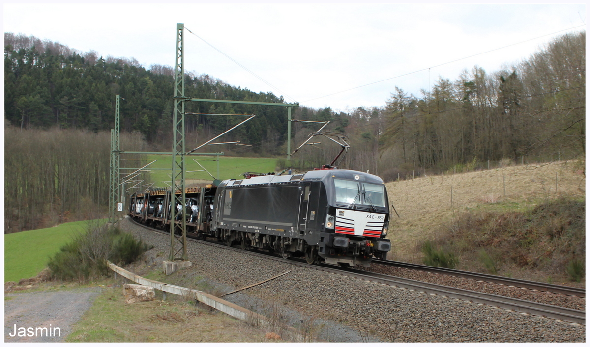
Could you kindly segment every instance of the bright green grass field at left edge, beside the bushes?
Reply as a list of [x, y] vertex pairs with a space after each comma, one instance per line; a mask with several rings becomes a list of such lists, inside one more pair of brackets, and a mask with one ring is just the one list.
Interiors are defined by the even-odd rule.
[[64, 223], [56, 227], [4, 235], [4, 282], [36, 276], [47, 260], [86, 229], [87, 222]]

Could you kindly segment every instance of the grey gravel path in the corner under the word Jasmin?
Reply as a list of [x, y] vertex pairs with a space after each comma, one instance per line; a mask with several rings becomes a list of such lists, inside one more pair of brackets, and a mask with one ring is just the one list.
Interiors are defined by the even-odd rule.
[[[71, 326], [92, 306], [100, 290], [84, 288], [6, 294], [5, 298], [10, 299], [4, 301], [4, 342], [64, 341], [65, 336], [71, 333]], [[33, 328], [31, 334], [26, 331], [27, 335], [33, 336], [18, 336], [19, 328]], [[51, 333], [39, 330], [35, 334], [36, 328], [51, 328]]]

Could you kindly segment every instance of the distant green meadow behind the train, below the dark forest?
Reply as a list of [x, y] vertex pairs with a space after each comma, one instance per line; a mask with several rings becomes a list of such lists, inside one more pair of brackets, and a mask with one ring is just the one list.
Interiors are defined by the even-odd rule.
[[[172, 168], [172, 156], [164, 156], [164, 155], [150, 155], [148, 156], [151, 160], [158, 160], [148, 168], [165, 168], [166, 170], [154, 170], [151, 175], [151, 179], [153, 182], [156, 182], [156, 187], [168, 187], [166, 183], [170, 184], [171, 178], [168, 174]], [[268, 173], [274, 172], [277, 166], [277, 159], [276, 158], [245, 158], [245, 157], [225, 157], [219, 156], [219, 174], [217, 171], [218, 162], [211, 161], [217, 160], [216, 156], [186, 156], [185, 157], [185, 166], [186, 171], [194, 171], [194, 170], [203, 170], [199, 167], [198, 164], [195, 163], [193, 159], [198, 160], [198, 163], [201, 164], [211, 175], [215, 176], [215, 178], [219, 178], [220, 180], [226, 179], [238, 179], [240, 178], [240, 174], [245, 173], [247, 171], [253, 172], [260, 172], [260, 173]], [[202, 161], [208, 160], [208, 161]], [[133, 161], [131, 163], [139, 163]], [[149, 161], [142, 161], [141, 163], [149, 163]], [[145, 165], [143, 164], [143, 165]], [[140, 167], [137, 164], [133, 167]], [[185, 179], [187, 184], [191, 184], [192, 180], [213, 180], [207, 172], [187, 172]], [[219, 176], [219, 177], [218, 177]], [[162, 181], [166, 181], [163, 183]]]

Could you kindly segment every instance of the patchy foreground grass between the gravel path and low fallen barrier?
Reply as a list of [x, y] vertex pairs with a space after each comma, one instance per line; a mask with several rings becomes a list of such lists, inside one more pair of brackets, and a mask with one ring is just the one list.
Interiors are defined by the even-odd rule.
[[107, 289], [67, 336], [68, 342], [262, 342], [255, 331], [230, 316], [176, 302], [125, 302], [122, 290]]

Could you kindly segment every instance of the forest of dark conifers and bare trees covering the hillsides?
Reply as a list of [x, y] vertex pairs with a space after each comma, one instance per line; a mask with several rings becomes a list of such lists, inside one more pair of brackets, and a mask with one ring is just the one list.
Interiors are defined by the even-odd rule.
[[[65, 177], [51, 180], [41, 176], [61, 177], [60, 174], [69, 170], [63, 166], [57, 173], [57, 161], [47, 158], [73, 163], [79, 155], [74, 150], [81, 148], [71, 144], [53, 145], [61, 143], [64, 136], [75, 134], [81, 142], [96, 142], [84, 148], [89, 151], [100, 148], [104, 158], [96, 158], [96, 163], [108, 161], [109, 136], [106, 133], [114, 126], [117, 94], [124, 98], [120, 104], [121, 126], [122, 133], [134, 139], [130, 143], [156, 151], [169, 151], [172, 147], [173, 68], [163, 65], [145, 68], [133, 59], [104, 58], [94, 51], [80, 52], [35, 37], [5, 33], [4, 38], [5, 132], [8, 135], [5, 138], [5, 172], [18, 173], [23, 172], [19, 170], [24, 167], [30, 168], [27, 175], [17, 177], [19, 186], [9, 187], [8, 176], [5, 181], [7, 229], [9, 225], [13, 230], [44, 225], [42, 220], [47, 219], [44, 216], [50, 211], [63, 222], [68, 211], [80, 210], [80, 199], [106, 204], [108, 191], [105, 187], [109, 177], [104, 170], [80, 174], [73, 190], [77, 195], [58, 182], [67, 182]], [[194, 72], [185, 75], [185, 95], [284, 103], [282, 97], [271, 92], [256, 93]], [[382, 107], [359, 107], [346, 113], [301, 106], [294, 108], [293, 118], [330, 121], [326, 130], [345, 134], [350, 144], [350, 151], [339, 168], [369, 171], [385, 181], [395, 180], [399, 174], [401, 177], [412, 175], [413, 171], [439, 173], [487, 161], [517, 161], [519, 158], [524, 161], [525, 157], [527, 162], [583, 158], [585, 32], [553, 39], [526, 60], [499, 71], [488, 72], [476, 66], [464, 70], [454, 80], [439, 77], [430, 91], [422, 90], [420, 95], [408, 94], [396, 87], [384, 102]], [[286, 107], [186, 103], [186, 112], [256, 114], [253, 120], [222, 139], [239, 140], [253, 147], [216, 147], [216, 150], [238, 156], [283, 157], [286, 153]], [[201, 144], [204, 139], [241, 120], [237, 116], [187, 116], [187, 147]], [[291, 149], [303, 143], [317, 128], [319, 126], [313, 123], [293, 123]], [[44, 131], [47, 139], [42, 135]], [[43, 140], [52, 145], [30, 147], [29, 143], [25, 146], [22, 141], [15, 140], [18, 138], [29, 139], [33, 144]], [[44, 150], [39, 156], [46, 156], [44, 168], [47, 170], [37, 170], [34, 164], [24, 162], [37, 160], [31, 155], [34, 148]], [[53, 153], [54, 150], [60, 154]], [[290, 163], [282, 165], [300, 170], [319, 167], [328, 164], [339, 150], [335, 143], [322, 141], [321, 145], [305, 146]], [[70, 156], [64, 151], [73, 154]], [[44, 186], [37, 187], [39, 182], [45, 182]], [[27, 191], [27, 199], [24, 199], [24, 187], [31, 189]], [[17, 208], [14, 201], [19, 201], [20, 207]], [[11, 224], [11, 219], [19, 222]]]

